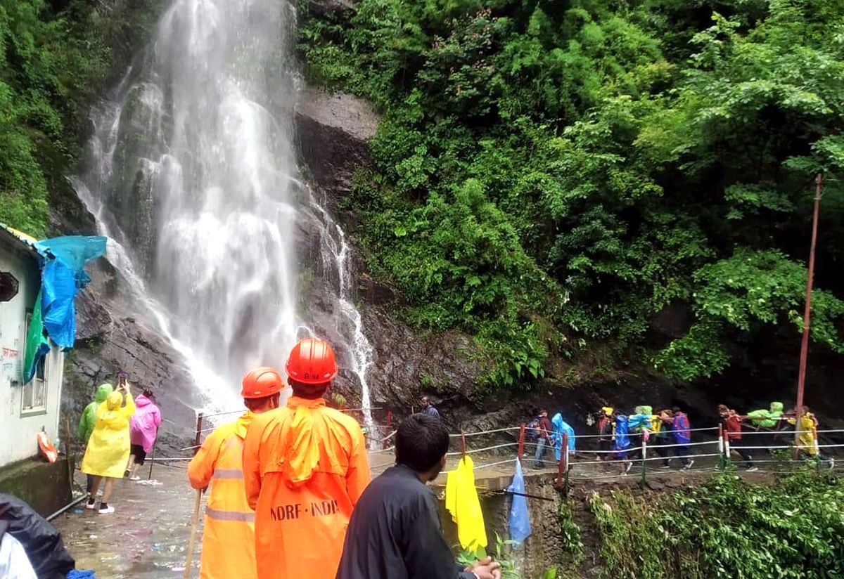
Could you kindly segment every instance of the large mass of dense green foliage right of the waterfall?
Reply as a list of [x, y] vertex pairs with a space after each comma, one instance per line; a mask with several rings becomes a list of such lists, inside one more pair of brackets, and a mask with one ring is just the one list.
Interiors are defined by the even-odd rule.
[[[371, 271], [414, 324], [475, 335], [494, 385], [592, 344], [706, 377], [802, 329], [818, 171], [820, 259], [842, 256], [842, 0], [300, 13], [309, 77], [384, 113], [349, 200]], [[839, 352], [841, 289], [815, 292], [813, 325]], [[669, 307], [681, 335], [652, 332]]]

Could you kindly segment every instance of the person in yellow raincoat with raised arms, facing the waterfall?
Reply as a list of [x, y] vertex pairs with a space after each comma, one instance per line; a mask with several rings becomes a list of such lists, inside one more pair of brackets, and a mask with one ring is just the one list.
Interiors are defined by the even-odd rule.
[[114, 489], [114, 480], [122, 478], [129, 460], [129, 419], [134, 412], [135, 401], [125, 378], [121, 378], [117, 389], [97, 408], [97, 422], [88, 439], [88, 448], [85, 449], [82, 459], [82, 472], [94, 476], [85, 508], [96, 507], [97, 490], [102, 480], [106, 479], [100, 501], [102, 515], [114, 512], [114, 507], [111, 507], [108, 501]]

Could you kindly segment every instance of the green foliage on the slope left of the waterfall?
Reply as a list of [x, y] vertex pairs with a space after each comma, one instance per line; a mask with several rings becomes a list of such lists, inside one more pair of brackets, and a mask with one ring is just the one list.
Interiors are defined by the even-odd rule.
[[46, 233], [47, 191], [66, 186], [88, 107], [149, 27], [123, 4], [0, 0], [0, 222]]

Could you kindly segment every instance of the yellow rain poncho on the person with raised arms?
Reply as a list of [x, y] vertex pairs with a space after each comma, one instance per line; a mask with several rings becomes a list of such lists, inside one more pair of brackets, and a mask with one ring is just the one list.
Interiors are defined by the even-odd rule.
[[112, 392], [97, 408], [97, 423], [82, 459], [85, 474], [122, 478], [129, 461], [129, 419], [135, 412], [132, 394], [126, 394], [125, 406], [122, 403], [123, 395]]

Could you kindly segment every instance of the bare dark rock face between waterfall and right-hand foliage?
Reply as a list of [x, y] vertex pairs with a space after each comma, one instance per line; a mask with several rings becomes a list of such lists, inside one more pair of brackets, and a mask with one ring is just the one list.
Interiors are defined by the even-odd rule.
[[[465, 404], [476, 398], [474, 383], [479, 367], [461, 354], [472, 350], [472, 340], [458, 333], [423, 339], [398, 321], [394, 312], [401, 305], [401, 297], [366, 274], [361, 255], [354, 248], [356, 221], [354, 214], [341, 209], [341, 201], [351, 190], [354, 171], [369, 163], [366, 142], [375, 135], [378, 116], [370, 105], [352, 95], [306, 87], [300, 91], [295, 120], [300, 158], [310, 173], [311, 186], [352, 240], [354, 292], [365, 334], [375, 349], [369, 373], [373, 405], [399, 413], [409, 411], [414, 405], [419, 407], [423, 389], [436, 392], [446, 404]], [[325, 283], [328, 275], [318, 255], [318, 234], [306, 224], [300, 231], [300, 260], [317, 268], [311, 282], [301, 284], [300, 300], [306, 317], [314, 319], [315, 329], [330, 340], [336, 330], [325, 315], [331, 302]], [[354, 385], [341, 373], [336, 388], [347, 399], [359, 400]]]

